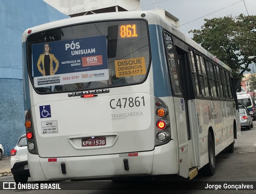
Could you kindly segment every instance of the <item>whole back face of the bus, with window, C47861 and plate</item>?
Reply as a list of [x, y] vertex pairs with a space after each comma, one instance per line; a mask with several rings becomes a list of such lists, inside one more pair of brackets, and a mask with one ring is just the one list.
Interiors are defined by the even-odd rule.
[[[164, 158], [176, 166], [168, 106], [152, 88], [146, 20], [31, 30], [26, 121], [32, 123], [29, 168], [37, 172], [32, 180], [150, 175]], [[46, 44], [55, 71], [50, 75], [44, 73]], [[170, 147], [173, 156], [160, 151]], [[155, 167], [154, 173], [163, 171]], [[177, 168], [168, 174], [177, 174]]]

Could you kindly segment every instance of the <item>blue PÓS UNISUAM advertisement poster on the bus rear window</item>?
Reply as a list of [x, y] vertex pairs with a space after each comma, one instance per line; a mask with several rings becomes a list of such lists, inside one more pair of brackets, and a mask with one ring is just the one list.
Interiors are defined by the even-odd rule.
[[34, 86], [108, 80], [106, 35], [32, 45]]

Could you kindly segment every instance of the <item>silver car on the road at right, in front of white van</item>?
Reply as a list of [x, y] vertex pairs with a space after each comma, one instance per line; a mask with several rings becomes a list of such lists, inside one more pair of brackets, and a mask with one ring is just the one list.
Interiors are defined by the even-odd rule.
[[250, 116], [250, 112], [244, 105], [239, 105], [239, 116], [240, 116], [240, 125], [241, 127], [246, 127], [247, 129], [251, 129], [253, 127], [252, 117]]

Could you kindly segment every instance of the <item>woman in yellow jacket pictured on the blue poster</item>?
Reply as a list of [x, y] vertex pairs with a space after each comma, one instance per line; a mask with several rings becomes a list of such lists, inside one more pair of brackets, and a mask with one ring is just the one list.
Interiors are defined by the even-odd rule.
[[[53, 67], [53, 61], [55, 62], [55, 68]], [[40, 64], [42, 63], [41, 68]], [[51, 54], [51, 47], [48, 43], [44, 44], [44, 54], [41, 54], [37, 62], [38, 71], [43, 76], [54, 75], [59, 67], [59, 61]]]

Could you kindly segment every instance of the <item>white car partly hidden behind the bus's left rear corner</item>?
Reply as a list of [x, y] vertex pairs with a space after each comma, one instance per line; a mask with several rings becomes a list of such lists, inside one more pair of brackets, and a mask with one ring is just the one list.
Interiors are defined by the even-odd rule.
[[30, 177], [28, 169], [28, 148], [26, 134], [20, 139], [14, 149], [11, 150], [11, 171], [16, 183], [26, 183]]

